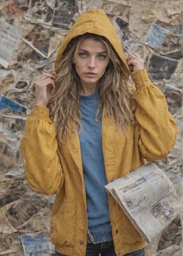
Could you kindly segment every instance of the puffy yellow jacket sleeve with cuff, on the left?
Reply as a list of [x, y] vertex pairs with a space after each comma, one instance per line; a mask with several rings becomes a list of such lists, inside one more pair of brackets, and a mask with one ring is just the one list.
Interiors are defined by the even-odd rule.
[[64, 178], [55, 127], [49, 119], [48, 108], [34, 105], [33, 115], [26, 120], [21, 151], [25, 159], [27, 183], [45, 195], [58, 192]]

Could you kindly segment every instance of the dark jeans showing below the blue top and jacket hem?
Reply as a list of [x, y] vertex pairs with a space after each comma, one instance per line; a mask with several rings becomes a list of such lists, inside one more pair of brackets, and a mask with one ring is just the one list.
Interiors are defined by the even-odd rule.
[[[114, 243], [113, 241], [97, 243], [94, 245], [93, 243], [87, 243], [86, 247], [86, 256], [116, 256], [114, 251]], [[54, 256], [67, 256], [55, 251]], [[125, 254], [125, 256], [145, 256], [145, 250], [141, 249], [138, 251], [133, 251], [133, 253]]]

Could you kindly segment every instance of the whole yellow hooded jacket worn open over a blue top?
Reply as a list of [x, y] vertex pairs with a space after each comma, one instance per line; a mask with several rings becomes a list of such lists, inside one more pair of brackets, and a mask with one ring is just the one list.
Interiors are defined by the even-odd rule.
[[[104, 11], [98, 9], [86, 11], [71, 27], [58, 49], [55, 70], [71, 38], [86, 32], [108, 38], [129, 76], [114, 27]], [[145, 69], [133, 72], [132, 78], [137, 89], [137, 124], [129, 125], [125, 136], [115, 128], [113, 120], [102, 115], [102, 149], [108, 183], [140, 167], [144, 159], [154, 161], [166, 156], [176, 141], [177, 125], [168, 112], [164, 95], [152, 85]], [[35, 105], [33, 115], [27, 117], [21, 149], [30, 186], [42, 194], [57, 193], [50, 234], [55, 250], [69, 256], [85, 256], [86, 191], [77, 131], [70, 131], [66, 143], [61, 143], [49, 118], [49, 109]], [[112, 196], [108, 197], [116, 254], [125, 255], [144, 247], [144, 240], [124, 211]]]

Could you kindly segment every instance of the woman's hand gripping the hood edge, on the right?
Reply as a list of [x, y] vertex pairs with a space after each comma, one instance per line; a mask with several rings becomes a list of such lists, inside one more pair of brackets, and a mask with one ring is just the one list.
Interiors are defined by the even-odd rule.
[[142, 58], [137, 53], [133, 53], [128, 56], [128, 58], [126, 58], [126, 61], [131, 73], [137, 70], [144, 69], [144, 60], [142, 60]]

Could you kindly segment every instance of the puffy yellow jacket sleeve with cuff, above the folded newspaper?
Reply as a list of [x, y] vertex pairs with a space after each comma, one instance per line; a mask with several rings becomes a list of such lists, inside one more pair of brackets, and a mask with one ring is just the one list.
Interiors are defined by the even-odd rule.
[[168, 111], [164, 94], [150, 82], [146, 70], [138, 70], [131, 76], [136, 85], [140, 152], [149, 161], [162, 159], [172, 151], [176, 143], [176, 122]]

